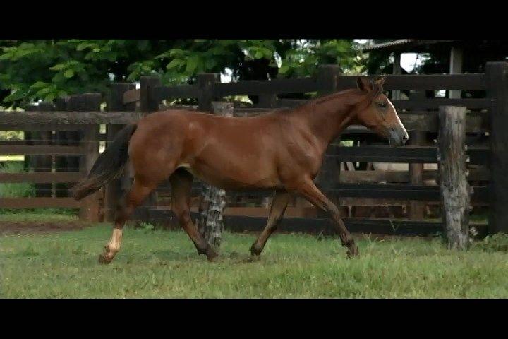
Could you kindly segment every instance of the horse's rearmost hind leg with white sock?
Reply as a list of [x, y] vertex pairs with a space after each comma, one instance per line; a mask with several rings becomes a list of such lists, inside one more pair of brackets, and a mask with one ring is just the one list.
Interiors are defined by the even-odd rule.
[[134, 178], [131, 191], [126, 194], [123, 201], [116, 207], [113, 234], [111, 235], [111, 240], [104, 246], [104, 254], [99, 256], [99, 262], [111, 263], [114, 256], [120, 250], [123, 225], [125, 225], [135, 208], [150, 194], [152, 189], [155, 189], [155, 185], [147, 184], [139, 177]]

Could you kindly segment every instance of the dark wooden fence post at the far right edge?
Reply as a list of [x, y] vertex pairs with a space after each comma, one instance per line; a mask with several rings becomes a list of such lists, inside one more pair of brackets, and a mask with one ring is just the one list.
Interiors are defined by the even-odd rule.
[[508, 64], [485, 67], [490, 106], [489, 233], [508, 233]]

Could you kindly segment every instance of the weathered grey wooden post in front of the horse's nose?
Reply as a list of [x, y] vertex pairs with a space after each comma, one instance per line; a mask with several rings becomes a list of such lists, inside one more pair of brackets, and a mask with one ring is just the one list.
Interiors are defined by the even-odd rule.
[[466, 107], [440, 107], [439, 121], [437, 139], [444, 231], [449, 249], [467, 249], [472, 187], [466, 177]]

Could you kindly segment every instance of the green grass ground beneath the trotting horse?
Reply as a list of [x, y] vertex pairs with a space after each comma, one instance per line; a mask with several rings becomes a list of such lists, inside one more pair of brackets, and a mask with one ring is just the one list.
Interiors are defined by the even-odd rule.
[[0, 237], [4, 298], [507, 298], [508, 254], [438, 239], [358, 242], [346, 259], [337, 239], [274, 234], [248, 261], [253, 234], [224, 234], [208, 263], [183, 232], [126, 228], [109, 266], [97, 256], [111, 227]]

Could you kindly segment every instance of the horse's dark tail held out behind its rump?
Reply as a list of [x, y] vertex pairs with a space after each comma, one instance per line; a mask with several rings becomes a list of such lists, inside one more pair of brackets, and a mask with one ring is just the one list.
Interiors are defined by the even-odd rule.
[[102, 186], [123, 172], [123, 167], [128, 160], [128, 143], [136, 126], [136, 124], [130, 124], [119, 131], [113, 142], [95, 161], [88, 177], [73, 186], [70, 191], [76, 200], [99, 191]]

